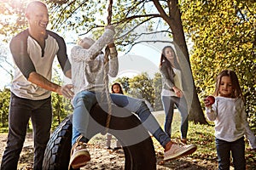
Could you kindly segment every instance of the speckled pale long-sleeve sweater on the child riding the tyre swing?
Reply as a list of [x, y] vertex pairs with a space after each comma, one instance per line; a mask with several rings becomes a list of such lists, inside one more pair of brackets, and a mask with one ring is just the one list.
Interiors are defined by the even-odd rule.
[[[103, 68], [104, 54], [98, 54], [96, 59], [90, 59], [97, 54], [114, 36], [114, 31], [106, 29], [90, 48], [82, 48], [74, 46], [71, 49], [72, 59], [72, 82], [74, 94], [78, 94], [82, 90], [90, 90], [101, 92], [104, 86]], [[108, 61], [108, 75], [116, 77], [119, 71], [119, 63], [117, 59], [116, 48], [110, 48], [110, 60]]]

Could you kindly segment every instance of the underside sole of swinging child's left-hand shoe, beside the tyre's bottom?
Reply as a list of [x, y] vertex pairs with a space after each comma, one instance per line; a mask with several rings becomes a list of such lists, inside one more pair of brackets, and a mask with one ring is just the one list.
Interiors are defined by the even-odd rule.
[[73, 167], [73, 169], [84, 167], [88, 161], [90, 161], [89, 152], [79, 151], [79, 153], [76, 153], [70, 158], [70, 167]]

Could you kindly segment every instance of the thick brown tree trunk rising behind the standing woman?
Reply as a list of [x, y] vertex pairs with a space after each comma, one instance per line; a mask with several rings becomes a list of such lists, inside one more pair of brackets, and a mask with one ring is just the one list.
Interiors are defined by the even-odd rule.
[[172, 30], [173, 42], [176, 48], [177, 57], [179, 62], [182, 64], [181, 67], [183, 70], [183, 77], [185, 77], [185, 80], [189, 82], [189, 84], [187, 83], [187, 88], [190, 94], [186, 95], [189, 106], [189, 120], [195, 123], [207, 124], [207, 120], [201, 109], [201, 104], [196, 93], [195, 82], [189, 61], [189, 52], [183, 32], [181, 13], [178, 8], [178, 2], [177, 0], [169, 1], [169, 16], [160, 7], [159, 1], [154, 0], [154, 5], [159, 10], [163, 20], [166, 20], [166, 23]]

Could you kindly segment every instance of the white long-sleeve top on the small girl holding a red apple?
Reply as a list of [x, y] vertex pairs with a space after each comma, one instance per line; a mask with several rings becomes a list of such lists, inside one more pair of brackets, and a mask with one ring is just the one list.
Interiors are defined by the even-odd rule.
[[217, 139], [233, 142], [246, 134], [247, 114], [242, 99], [216, 97], [206, 112], [208, 120], [215, 123]]

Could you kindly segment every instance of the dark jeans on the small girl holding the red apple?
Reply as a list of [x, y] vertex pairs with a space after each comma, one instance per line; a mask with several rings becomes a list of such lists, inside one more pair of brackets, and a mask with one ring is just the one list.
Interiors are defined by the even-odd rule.
[[215, 143], [218, 155], [218, 170], [230, 170], [230, 153], [232, 153], [235, 169], [246, 169], [244, 137], [234, 142], [215, 139]]

